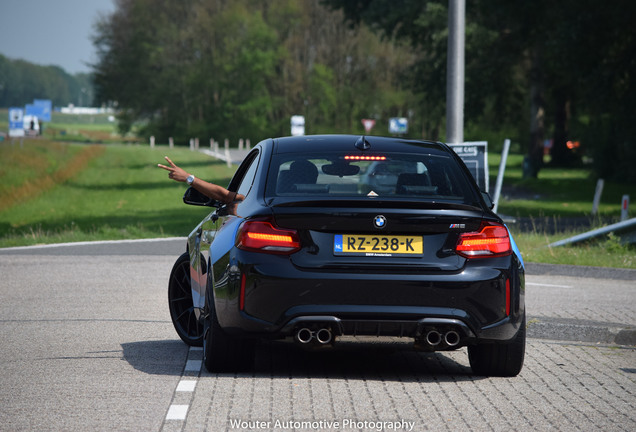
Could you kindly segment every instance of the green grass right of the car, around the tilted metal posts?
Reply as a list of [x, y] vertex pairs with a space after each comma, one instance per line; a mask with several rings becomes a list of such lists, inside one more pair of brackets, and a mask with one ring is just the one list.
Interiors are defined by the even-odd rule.
[[[494, 188], [501, 155], [489, 153], [490, 185]], [[523, 179], [523, 156], [510, 155], [506, 164], [503, 192], [498, 213], [513, 219], [530, 220], [530, 228], [509, 224], [515, 241], [528, 262], [636, 268], [636, 248], [621, 244], [614, 235], [594, 241], [552, 248], [549, 245], [581, 232], [571, 227], [572, 220], [591, 222], [600, 227], [618, 221], [623, 195], [636, 197], [636, 185], [605, 182], [598, 214], [592, 216], [596, 179], [585, 168], [543, 167], [536, 179]], [[491, 191], [494, 193], [494, 191]], [[549, 219], [556, 233], [548, 234], [539, 223]], [[537, 222], [534, 226], [534, 222]], [[528, 224], [526, 224], [528, 225]]]

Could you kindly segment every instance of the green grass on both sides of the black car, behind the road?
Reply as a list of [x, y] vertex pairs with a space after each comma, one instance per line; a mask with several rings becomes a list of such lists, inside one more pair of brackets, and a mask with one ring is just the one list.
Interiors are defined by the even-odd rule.
[[[185, 236], [209, 209], [184, 205], [181, 197], [185, 186], [170, 181], [157, 163], [167, 154], [186, 170], [222, 185], [228, 183], [235, 169], [183, 148], [104, 145], [83, 169], [63, 179], [59, 173], [77, 165], [86, 148], [83, 144], [42, 139], [25, 140], [23, 147], [8, 142], [0, 145], [0, 202], [9, 197], [14, 200], [10, 207], [0, 207], [0, 247]], [[496, 176], [498, 155], [490, 157], [490, 172]], [[504, 184], [531, 198], [504, 196], [500, 213], [555, 219], [589, 215], [596, 183], [588, 171], [545, 168], [538, 179], [529, 181], [521, 178], [521, 161], [521, 156], [510, 158]], [[57, 182], [35, 182], [35, 188], [25, 187], [42, 176]], [[26, 195], [18, 193], [16, 198], [16, 191]], [[634, 186], [606, 184], [602, 216], [618, 217], [624, 193], [636, 196]], [[535, 195], [539, 198], [534, 199]], [[521, 232], [515, 224], [510, 228], [527, 262], [636, 268], [634, 248], [621, 245], [613, 236], [584, 245], [550, 248], [549, 244], [577, 232], [549, 235], [539, 229]]]

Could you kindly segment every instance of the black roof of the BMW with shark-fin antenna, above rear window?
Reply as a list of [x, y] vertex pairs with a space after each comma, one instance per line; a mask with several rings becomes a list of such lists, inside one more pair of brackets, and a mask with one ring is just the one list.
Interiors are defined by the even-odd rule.
[[[362, 151], [356, 147], [360, 135], [302, 135], [276, 138], [273, 140], [274, 154], [325, 151]], [[407, 140], [397, 137], [363, 136], [369, 145], [364, 151], [369, 152], [414, 152], [448, 155], [450, 149], [443, 143], [433, 141]]]

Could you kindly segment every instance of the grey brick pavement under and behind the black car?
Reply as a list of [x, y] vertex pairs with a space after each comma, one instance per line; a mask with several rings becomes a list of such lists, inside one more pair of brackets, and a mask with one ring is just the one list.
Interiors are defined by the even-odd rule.
[[635, 365], [633, 348], [529, 340], [518, 377], [485, 378], [465, 349], [266, 344], [254, 373], [202, 372], [182, 430], [631, 431]]

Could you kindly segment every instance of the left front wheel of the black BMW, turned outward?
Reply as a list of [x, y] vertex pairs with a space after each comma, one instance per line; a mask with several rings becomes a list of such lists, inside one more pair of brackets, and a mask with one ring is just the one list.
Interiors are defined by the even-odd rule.
[[197, 318], [190, 285], [190, 256], [181, 255], [172, 267], [168, 283], [170, 318], [177, 334], [190, 346], [203, 345], [203, 325]]

